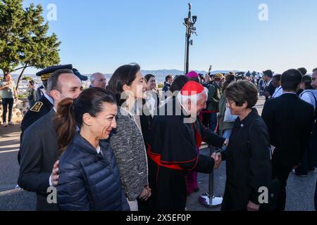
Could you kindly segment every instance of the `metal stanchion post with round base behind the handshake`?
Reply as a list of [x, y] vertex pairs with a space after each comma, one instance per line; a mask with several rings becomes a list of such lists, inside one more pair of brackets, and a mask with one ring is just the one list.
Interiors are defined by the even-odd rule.
[[[215, 147], [210, 147], [210, 155], [215, 151]], [[199, 203], [206, 207], [216, 208], [223, 203], [222, 197], [215, 197], [213, 195], [213, 172], [209, 175], [209, 193], [204, 193], [199, 197]]]

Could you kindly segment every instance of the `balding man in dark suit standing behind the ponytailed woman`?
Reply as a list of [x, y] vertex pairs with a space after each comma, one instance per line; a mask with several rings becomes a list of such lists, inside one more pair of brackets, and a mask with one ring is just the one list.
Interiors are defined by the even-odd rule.
[[54, 169], [58, 146], [53, 120], [58, 103], [65, 98], [77, 98], [82, 84], [72, 70], [57, 70], [49, 77], [47, 91], [54, 99], [54, 108], [26, 129], [20, 146], [18, 185], [26, 191], [37, 193], [39, 211], [58, 210], [56, 204], [49, 204], [46, 200], [47, 188], [56, 185], [58, 179]]

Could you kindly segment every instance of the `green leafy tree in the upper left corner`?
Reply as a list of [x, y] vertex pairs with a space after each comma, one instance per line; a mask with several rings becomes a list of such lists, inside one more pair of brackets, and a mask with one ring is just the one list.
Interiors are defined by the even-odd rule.
[[[23, 9], [22, 0], [0, 0], [0, 68], [4, 75], [21, 70], [18, 84], [26, 68], [37, 69], [60, 62], [56, 34], [47, 35], [41, 5]], [[18, 67], [19, 66], [19, 67]]]

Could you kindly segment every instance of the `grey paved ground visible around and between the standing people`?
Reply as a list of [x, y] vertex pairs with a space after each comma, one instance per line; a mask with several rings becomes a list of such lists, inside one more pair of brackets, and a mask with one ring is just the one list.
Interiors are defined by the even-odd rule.
[[[263, 98], [257, 108], [261, 114]], [[26, 191], [14, 190], [18, 180], [18, 148], [20, 140], [20, 126], [0, 127], [0, 211], [30, 211], [35, 210], [35, 194]], [[209, 155], [209, 148], [201, 150], [202, 154]], [[313, 193], [315, 191], [317, 174], [309, 174], [302, 178], [290, 174], [287, 186], [288, 211], [311, 211], [313, 207]], [[199, 195], [209, 190], [209, 174], [199, 174], [199, 193], [192, 193], [188, 197], [187, 210], [189, 211], [217, 211], [220, 208], [209, 209], [198, 201]], [[223, 195], [225, 188], [225, 164], [215, 172], [214, 193]]]

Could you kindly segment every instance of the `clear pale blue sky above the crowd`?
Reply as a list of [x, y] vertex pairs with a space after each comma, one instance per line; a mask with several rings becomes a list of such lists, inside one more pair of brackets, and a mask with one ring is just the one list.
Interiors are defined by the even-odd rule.
[[[26, 0], [56, 4], [61, 63], [80, 72], [111, 73], [136, 62], [144, 70], [184, 68], [185, 26], [189, 0]], [[190, 69], [283, 72], [317, 67], [316, 0], [192, 0], [198, 16]], [[259, 20], [267, 4], [268, 21]], [[29, 69], [28, 73], [37, 70]]]

